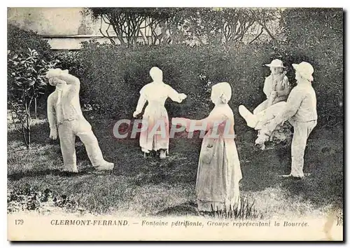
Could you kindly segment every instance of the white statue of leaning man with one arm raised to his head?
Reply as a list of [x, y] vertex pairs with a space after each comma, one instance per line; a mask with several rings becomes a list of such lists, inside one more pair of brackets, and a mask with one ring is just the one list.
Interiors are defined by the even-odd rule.
[[50, 85], [56, 87], [55, 92], [48, 97], [48, 122], [50, 139], [57, 139], [58, 129], [64, 170], [78, 172], [76, 136], [85, 145], [87, 156], [96, 170], [113, 170], [114, 164], [104, 160], [91, 125], [85, 120], [80, 109], [79, 79], [69, 74], [68, 70], [62, 71], [61, 69], [50, 69], [46, 77]]

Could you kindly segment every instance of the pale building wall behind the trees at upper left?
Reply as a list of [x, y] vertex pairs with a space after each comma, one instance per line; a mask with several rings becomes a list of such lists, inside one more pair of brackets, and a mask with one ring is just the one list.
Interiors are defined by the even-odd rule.
[[106, 24], [83, 15], [83, 8], [8, 8], [8, 24], [37, 32], [52, 50], [78, 50], [82, 41], [91, 39], [110, 43], [99, 31], [105, 30]]

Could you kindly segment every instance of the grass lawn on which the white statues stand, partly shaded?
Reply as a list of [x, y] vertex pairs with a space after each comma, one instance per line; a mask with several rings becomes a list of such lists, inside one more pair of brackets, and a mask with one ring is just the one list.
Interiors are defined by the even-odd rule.
[[[43, 116], [45, 117], [45, 116]], [[195, 179], [201, 139], [171, 139], [169, 157], [144, 158], [138, 139], [117, 140], [116, 120], [92, 118], [106, 160], [116, 163], [109, 174], [95, 174], [85, 148], [76, 139], [78, 174], [62, 174], [59, 141], [48, 138], [48, 123], [39, 118], [32, 127], [32, 147], [25, 149], [20, 135], [8, 126], [8, 191], [50, 189], [66, 195], [87, 212], [133, 215], [196, 214]], [[243, 179], [241, 195], [263, 216], [324, 214], [343, 202], [343, 133], [316, 128], [307, 144], [301, 181], [284, 179], [290, 172], [290, 146], [259, 151], [255, 132], [236, 115], [237, 147]]]

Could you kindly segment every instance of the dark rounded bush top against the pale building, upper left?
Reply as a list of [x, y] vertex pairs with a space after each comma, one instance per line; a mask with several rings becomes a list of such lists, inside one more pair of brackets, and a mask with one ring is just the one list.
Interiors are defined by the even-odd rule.
[[14, 25], [8, 25], [7, 49], [12, 53], [27, 53], [28, 48], [38, 52], [40, 58], [50, 59], [52, 50], [48, 43], [36, 32], [20, 29]]

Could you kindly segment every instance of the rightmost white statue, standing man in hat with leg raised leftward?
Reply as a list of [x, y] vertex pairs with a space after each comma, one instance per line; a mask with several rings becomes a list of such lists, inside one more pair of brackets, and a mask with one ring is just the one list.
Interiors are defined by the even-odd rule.
[[304, 151], [307, 139], [317, 125], [316, 93], [311, 85], [314, 68], [308, 62], [293, 64], [297, 86], [290, 91], [287, 102], [279, 102], [264, 111], [253, 114], [244, 106], [239, 113], [249, 127], [260, 131], [255, 143], [263, 145], [275, 128], [288, 120], [294, 128], [292, 140], [292, 167], [286, 177], [304, 177]]

